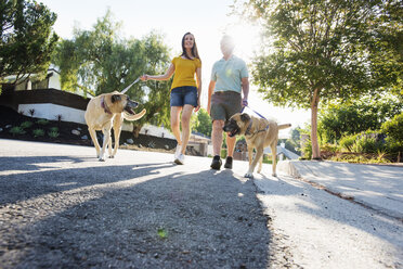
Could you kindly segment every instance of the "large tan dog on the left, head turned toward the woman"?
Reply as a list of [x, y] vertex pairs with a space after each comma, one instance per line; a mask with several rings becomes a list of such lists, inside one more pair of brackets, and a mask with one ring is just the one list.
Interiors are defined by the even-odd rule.
[[[109, 157], [113, 158], [119, 148], [119, 138], [123, 119], [136, 120], [144, 116], [145, 110], [135, 114], [132, 108], [139, 105], [131, 101], [128, 95], [118, 91], [104, 93], [90, 100], [86, 111], [86, 123], [90, 132], [92, 142], [95, 145], [96, 156], [100, 161], [105, 161], [105, 149], [108, 145]], [[115, 149], [112, 152], [110, 129], [114, 127]], [[102, 149], [96, 139], [96, 130], [102, 130], [104, 141]]]

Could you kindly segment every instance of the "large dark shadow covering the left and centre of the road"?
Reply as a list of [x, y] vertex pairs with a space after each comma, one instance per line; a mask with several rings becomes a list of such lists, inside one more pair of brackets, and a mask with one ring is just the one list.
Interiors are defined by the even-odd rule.
[[29, 166], [47, 161], [20, 158], [29, 172], [0, 181], [4, 268], [269, 266], [266, 217], [250, 180], [167, 163]]

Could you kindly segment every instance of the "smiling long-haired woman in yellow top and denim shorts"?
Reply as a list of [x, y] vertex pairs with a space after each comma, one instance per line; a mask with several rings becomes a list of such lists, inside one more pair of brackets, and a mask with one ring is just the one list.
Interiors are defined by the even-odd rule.
[[[197, 52], [194, 36], [186, 33], [182, 38], [182, 54], [172, 60], [171, 65], [164, 75], [143, 75], [141, 80], [168, 80], [174, 73], [171, 86], [171, 128], [178, 145], [174, 153], [174, 163], [183, 165], [186, 145], [191, 134], [191, 116], [193, 110], [200, 108], [202, 95], [202, 61]], [[195, 80], [195, 74], [196, 79]], [[182, 116], [180, 118], [180, 114]], [[182, 125], [182, 140], [180, 125]]]

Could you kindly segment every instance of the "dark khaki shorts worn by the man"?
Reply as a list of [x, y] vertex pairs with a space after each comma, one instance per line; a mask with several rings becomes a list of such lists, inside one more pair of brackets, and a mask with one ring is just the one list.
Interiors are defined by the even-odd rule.
[[211, 120], [227, 120], [235, 113], [240, 112], [240, 93], [235, 91], [218, 91], [211, 95]]

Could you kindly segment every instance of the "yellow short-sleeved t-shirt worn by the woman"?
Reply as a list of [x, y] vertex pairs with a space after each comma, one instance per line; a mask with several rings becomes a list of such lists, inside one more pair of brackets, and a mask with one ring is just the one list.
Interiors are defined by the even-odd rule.
[[202, 67], [199, 59], [183, 59], [182, 56], [174, 57], [172, 60], [174, 66], [173, 81], [171, 90], [182, 86], [194, 86], [196, 85], [195, 74], [198, 67]]

